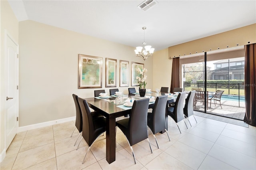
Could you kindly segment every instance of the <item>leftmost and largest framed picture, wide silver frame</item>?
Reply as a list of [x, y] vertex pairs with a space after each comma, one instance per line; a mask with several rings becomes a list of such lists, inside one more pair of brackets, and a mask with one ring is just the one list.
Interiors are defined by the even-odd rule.
[[102, 88], [102, 57], [78, 54], [78, 89]]

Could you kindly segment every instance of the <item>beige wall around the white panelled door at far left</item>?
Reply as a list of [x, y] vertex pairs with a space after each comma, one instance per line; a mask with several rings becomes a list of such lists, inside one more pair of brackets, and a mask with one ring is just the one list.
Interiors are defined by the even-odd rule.
[[0, 1], [0, 154], [5, 149], [5, 123], [6, 123], [6, 59], [5, 59], [5, 30], [18, 42], [18, 20], [12, 12], [8, 1]]

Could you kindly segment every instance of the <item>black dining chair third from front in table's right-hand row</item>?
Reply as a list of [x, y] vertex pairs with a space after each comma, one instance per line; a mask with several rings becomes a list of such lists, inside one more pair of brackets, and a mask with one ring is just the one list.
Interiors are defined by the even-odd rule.
[[[179, 93], [174, 107], [168, 107], [167, 113], [176, 122], [177, 126], [178, 126], [178, 124], [177, 124], [178, 122], [180, 122], [182, 120], [185, 122], [184, 114], [183, 114], [183, 103], [184, 103], [185, 98], [186, 98], [185, 92]], [[186, 122], [185, 122], [185, 125], [187, 127]], [[178, 128], [179, 128], [179, 126], [178, 126]], [[180, 130], [180, 128], [179, 128], [179, 130]], [[180, 133], [181, 133], [181, 131], [180, 131]]]

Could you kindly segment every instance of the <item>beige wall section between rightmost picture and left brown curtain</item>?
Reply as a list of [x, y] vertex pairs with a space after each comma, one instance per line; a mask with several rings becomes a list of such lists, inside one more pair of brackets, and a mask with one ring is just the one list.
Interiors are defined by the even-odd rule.
[[153, 56], [153, 90], [171, 85], [172, 59], [168, 59], [168, 48], [154, 52]]

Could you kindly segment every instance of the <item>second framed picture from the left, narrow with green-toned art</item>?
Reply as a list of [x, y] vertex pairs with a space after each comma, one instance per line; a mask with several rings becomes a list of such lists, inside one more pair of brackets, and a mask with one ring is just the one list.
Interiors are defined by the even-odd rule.
[[116, 59], [106, 58], [106, 87], [116, 87]]

